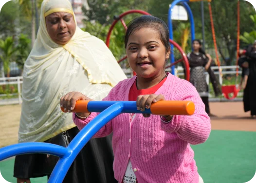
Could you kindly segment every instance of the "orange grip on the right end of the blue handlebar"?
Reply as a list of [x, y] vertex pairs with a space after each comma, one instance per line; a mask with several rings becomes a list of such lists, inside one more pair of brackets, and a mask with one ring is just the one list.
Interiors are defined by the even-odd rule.
[[154, 115], [193, 115], [195, 104], [192, 101], [160, 100], [151, 104], [150, 111]]

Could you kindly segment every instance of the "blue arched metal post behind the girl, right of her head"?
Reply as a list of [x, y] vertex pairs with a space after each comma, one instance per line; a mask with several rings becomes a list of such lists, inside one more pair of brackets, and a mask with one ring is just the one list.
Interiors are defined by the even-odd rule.
[[[171, 3], [171, 6], [169, 8], [169, 11], [168, 11], [168, 27], [169, 27], [169, 37], [171, 40], [173, 40], [173, 28], [172, 28], [172, 19], [171, 19], [171, 15], [172, 15], [172, 10], [174, 8], [174, 6], [178, 3], [181, 3], [183, 5], [183, 7], [186, 9], [187, 11], [187, 14], [188, 14], [188, 18], [189, 18], [189, 21], [190, 21], [190, 24], [191, 24], [191, 47], [192, 47], [192, 41], [195, 39], [195, 23], [194, 23], [194, 18], [193, 18], [193, 14], [192, 14], [192, 11], [189, 7], [189, 5], [187, 4], [187, 2], [189, 2], [189, 0], [174, 0], [172, 3]], [[173, 50], [174, 47], [173, 45], [171, 44], [171, 50]], [[193, 48], [191, 48], [191, 50], [193, 51]], [[170, 57], [170, 62], [171, 64], [174, 63], [174, 54], [171, 54], [171, 57]], [[173, 75], [175, 75], [175, 66], [172, 66], [171, 67], [171, 72]]]

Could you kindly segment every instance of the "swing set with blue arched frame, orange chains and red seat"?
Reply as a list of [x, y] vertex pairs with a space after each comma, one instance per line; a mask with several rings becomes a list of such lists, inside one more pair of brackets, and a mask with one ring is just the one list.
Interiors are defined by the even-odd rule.
[[[192, 41], [195, 39], [195, 23], [194, 23], [194, 18], [193, 18], [192, 11], [191, 11], [189, 5], [187, 4], [187, 2], [196, 2], [196, 1], [201, 1], [201, 0], [174, 0], [171, 3], [171, 5], [169, 7], [169, 11], [168, 11], [168, 26], [169, 26], [169, 33], [170, 33], [170, 39], [171, 40], [173, 39], [173, 28], [172, 28], [172, 19], [171, 19], [172, 11], [173, 11], [173, 8], [176, 4], [181, 3], [183, 5], [183, 7], [185, 8], [185, 10], [187, 11], [187, 14], [188, 14], [188, 17], [189, 17], [190, 27], [191, 27], [191, 46], [192, 46]], [[222, 74], [221, 74], [219, 55], [218, 55], [218, 49], [217, 49], [217, 43], [216, 43], [216, 35], [215, 35], [215, 30], [214, 30], [211, 0], [205, 0], [205, 1], [208, 1], [215, 54], [216, 54], [216, 59], [217, 59], [218, 67], [219, 67], [219, 73], [221, 75], [219, 82], [222, 85]], [[239, 31], [239, 29], [240, 29], [240, 20], [239, 20], [239, 17], [240, 17], [240, 10], [239, 10], [239, 0], [238, 0], [238, 38], [237, 38], [236, 83], [237, 83], [237, 80], [238, 80], [238, 53], [239, 53], [239, 35], [240, 35], [240, 31]], [[171, 45], [171, 50], [172, 49], [173, 49], [173, 45]], [[191, 48], [191, 50], [193, 51], [193, 48]], [[174, 63], [174, 55], [173, 54], [171, 55], [170, 60], [171, 60], [171, 63]], [[173, 71], [173, 68], [172, 68], [172, 71]], [[175, 73], [172, 72], [172, 74], [175, 74]], [[237, 95], [238, 95], [238, 92], [239, 92], [239, 89], [237, 88], [236, 85], [222, 86], [221, 89], [222, 89], [223, 96], [228, 100], [232, 100], [232, 99], [236, 98]], [[230, 93], [233, 93], [233, 97], [229, 97]]]

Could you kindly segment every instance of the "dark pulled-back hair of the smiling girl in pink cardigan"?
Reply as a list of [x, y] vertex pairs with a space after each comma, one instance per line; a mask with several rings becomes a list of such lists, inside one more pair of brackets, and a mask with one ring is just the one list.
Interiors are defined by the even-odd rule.
[[151, 28], [152, 30], [158, 31], [160, 39], [165, 45], [166, 53], [170, 50], [169, 29], [166, 23], [160, 18], [150, 15], [143, 15], [129, 22], [128, 29], [125, 35], [125, 48], [127, 48], [128, 38], [130, 34], [139, 31], [141, 28]]

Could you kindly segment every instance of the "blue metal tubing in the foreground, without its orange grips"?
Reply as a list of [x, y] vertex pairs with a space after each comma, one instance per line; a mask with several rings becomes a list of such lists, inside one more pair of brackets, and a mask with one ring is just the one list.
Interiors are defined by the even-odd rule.
[[0, 149], [0, 161], [12, 156], [28, 153], [44, 153], [59, 156], [60, 159], [48, 183], [62, 183], [69, 167], [80, 150], [111, 119], [121, 113], [151, 114], [150, 109], [146, 109], [144, 112], [137, 110], [136, 101], [91, 101], [87, 107], [90, 112], [101, 113], [75, 136], [67, 148], [43, 142], [14, 144]]

